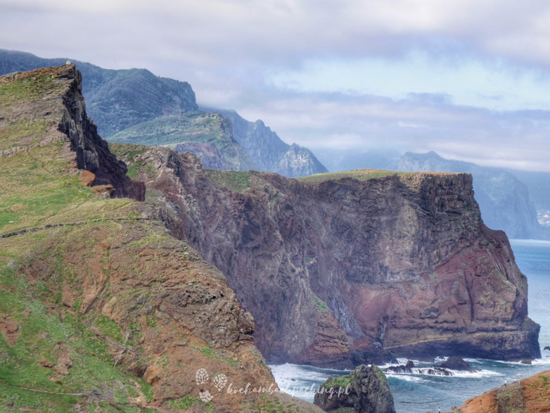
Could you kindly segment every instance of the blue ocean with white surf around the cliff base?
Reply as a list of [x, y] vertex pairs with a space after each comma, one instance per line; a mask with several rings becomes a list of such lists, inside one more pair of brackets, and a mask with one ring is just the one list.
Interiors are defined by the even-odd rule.
[[[529, 284], [529, 315], [541, 326], [541, 349], [550, 346], [550, 241], [511, 240], [516, 263]], [[494, 360], [466, 359], [474, 373], [457, 373], [454, 376], [423, 374], [423, 367], [433, 363], [415, 361], [415, 374], [388, 374], [397, 413], [425, 413], [450, 411], [453, 406], [487, 390], [502, 386], [550, 369], [550, 351], [541, 350], [542, 358], [532, 364], [499, 362]], [[436, 360], [440, 364], [444, 359]], [[414, 360], [413, 360], [414, 361]], [[401, 364], [407, 359], [399, 360]], [[316, 388], [333, 376], [349, 371], [319, 369], [298, 364], [270, 365], [281, 390], [298, 398], [313, 402]]]

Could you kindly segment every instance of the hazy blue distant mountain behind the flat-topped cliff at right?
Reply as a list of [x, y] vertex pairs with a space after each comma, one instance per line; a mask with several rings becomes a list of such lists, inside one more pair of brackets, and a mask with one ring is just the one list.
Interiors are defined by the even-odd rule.
[[511, 174], [496, 168], [482, 167], [461, 160], [448, 160], [435, 152], [405, 153], [399, 171], [469, 172], [473, 175], [475, 199], [488, 227], [503, 229], [510, 238], [546, 238], [537, 222], [535, 206], [527, 185]]

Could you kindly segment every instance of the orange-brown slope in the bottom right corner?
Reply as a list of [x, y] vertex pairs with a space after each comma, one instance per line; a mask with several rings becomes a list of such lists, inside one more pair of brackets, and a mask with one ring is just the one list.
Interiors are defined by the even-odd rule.
[[514, 381], [454, 407], [449, 413], [549, 412], [550, 371]]

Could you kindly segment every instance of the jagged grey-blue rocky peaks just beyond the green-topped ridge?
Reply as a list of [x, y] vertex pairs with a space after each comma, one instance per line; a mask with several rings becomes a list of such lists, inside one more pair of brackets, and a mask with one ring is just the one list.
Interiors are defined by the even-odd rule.
[[262, 120], [249, 122], [235, 110], [203, 108], [219, 112], [233, 124], [234, 137], [250, 154], [260, 170], [286, 177], [304, 177], [328, 172], [312, 151], [297, 144], [288, 145]]

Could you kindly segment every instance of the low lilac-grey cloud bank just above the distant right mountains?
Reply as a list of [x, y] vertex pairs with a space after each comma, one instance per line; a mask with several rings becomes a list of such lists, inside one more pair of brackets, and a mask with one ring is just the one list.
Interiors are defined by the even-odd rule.
[[436, 151], [490, 166], [550, 171], [550, 111], [456, 106], [442, 96], [279, 94], [242, 113], [283, 139], [318, 149]]

